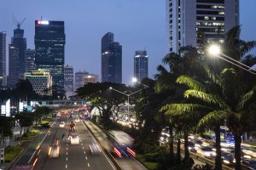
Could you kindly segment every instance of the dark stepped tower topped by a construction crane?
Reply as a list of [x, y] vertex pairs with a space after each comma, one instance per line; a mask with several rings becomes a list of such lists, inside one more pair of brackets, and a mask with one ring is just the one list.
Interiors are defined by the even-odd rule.
[[20, 25], [14, 31], [14, 37], [9, 44], [9, 77], [8, 86], [14, 88], [19, 79], [23, 78], [25, 62], [26, 38]]

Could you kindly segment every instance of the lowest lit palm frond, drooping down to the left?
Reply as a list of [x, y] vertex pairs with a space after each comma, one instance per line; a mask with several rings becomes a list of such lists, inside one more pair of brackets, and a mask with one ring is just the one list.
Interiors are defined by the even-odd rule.
[[201, 118], [200, 122], [198, 122], [197, 127], [206, 127], [208, 125], [224, 121], [224, 118], [229, 115], [230, 114], [227, 111], [211, 111], [207, 114], [207, 116]]

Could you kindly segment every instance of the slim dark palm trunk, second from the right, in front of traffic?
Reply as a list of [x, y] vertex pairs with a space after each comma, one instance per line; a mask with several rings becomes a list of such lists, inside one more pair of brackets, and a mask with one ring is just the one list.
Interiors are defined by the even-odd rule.
[[222, 159], [221, 159], [221, 145], [220, 145], [220, 126], [215, 127], [215, 147], [216, 147], [216, 157], [215, 157], [215, 169], [222, 170]]

